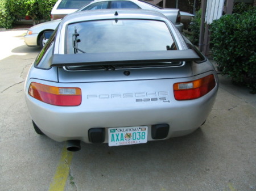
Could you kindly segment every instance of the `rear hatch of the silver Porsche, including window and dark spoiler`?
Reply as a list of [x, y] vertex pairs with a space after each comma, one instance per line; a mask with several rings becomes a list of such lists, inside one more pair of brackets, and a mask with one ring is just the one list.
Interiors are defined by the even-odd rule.
[[[50, 60], [50, 66], [59, 67], [59, 82], [191, 77], [190, 62], [201, 58], [194, 50], [186, 49], [166, 18], [151, 20], [142, 15], [142, 19], [127, 19], [122, 10], [113, 14], [115, 19], [67, 25], [65, 54], [54, 54]], [[147, 14], [159, 16], [155, 12]]]

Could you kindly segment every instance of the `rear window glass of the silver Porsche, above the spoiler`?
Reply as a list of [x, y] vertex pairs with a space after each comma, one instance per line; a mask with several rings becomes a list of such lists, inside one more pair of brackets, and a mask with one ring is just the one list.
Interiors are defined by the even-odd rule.
[[115, 19], [69, 24], [66, 50], [74, 53], [169, 50], [174, 44], [159, 20]]

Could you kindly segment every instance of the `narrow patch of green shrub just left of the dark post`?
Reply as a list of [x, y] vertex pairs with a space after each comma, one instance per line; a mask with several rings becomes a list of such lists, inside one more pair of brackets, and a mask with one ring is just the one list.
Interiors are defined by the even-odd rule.
[[201, 10], [197, 11], [195, 14], [195, 17], [193, 18], [193, 22], [189, 24], [189, 28], [191, 28], [191, 32], [192, 32], [192, 35], [189, 37], [189, 40], [191, 41], [191, 43], [195, 45], [199, 44], [201, 14], [202, 14]]

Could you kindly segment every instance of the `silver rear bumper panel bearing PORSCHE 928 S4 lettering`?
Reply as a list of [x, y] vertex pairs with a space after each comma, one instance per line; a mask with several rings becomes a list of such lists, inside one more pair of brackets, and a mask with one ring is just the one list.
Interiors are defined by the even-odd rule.
[[[150, 82], [142, 80], [76, 83], [73, 86], [80, 87], [82, 90], [82, 104], [78, 107], [57, 107], [29, 96], [27, 92], [30, 82], [47, 83], [49, 86], [59, 87], [70, 87], [71, 84], [30, 79], [26, 84], [26, 101], [32, 120], [44, 134], [55, 141], [76, 139], [89, 143], [88, 130], [104, 128], [106, 143], [108, 128], [131, 126], [148, 126], [148, 141], [153, 141], [152, 125], [168, 124], [170, 126], [168, 135], [164, 139], [186, 135], [203, 124], [213, 107], [217, 95], [217, 83], [212, 91], [199, 99], [176, 101], [172, 84], [179, 81], [180, 79], [159, 79], [150, 80]], [[145, 83], [150, 84], [150, 87], [145, 86]], [[134, 90], [134, 87], [137, 87], [137, 91], [129, 93]], [[117, 91], [123, 92], [117, 94]]]

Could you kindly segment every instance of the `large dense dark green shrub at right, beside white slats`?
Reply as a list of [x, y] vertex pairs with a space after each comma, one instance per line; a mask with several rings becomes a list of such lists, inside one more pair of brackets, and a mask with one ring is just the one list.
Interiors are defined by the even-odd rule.
[[224, 15], [210, 28], [213, 58], [222, 74], [256, 93], [256, 9]]

